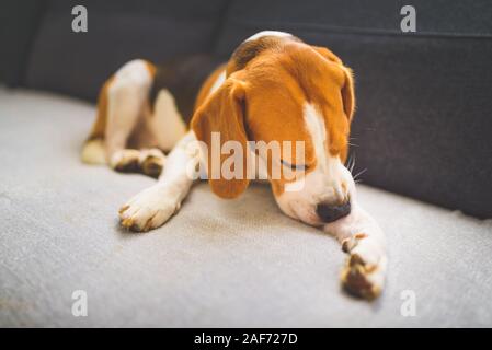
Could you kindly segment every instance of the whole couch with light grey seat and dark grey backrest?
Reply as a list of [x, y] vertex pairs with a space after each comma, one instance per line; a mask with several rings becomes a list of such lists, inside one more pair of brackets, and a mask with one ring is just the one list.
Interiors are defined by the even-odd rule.
[[[0, 326], [491, 326], [492, 7], [413, 3], [417, 32], [402, 34], [400, 1], [3, 2]], [[75, 4], [88, 33], [70, 30]], [[221, 200], [197, 184], [179, 215], [134, 234], [116, 210], [153, 179], [79, 160], [98, 89], [123, 62], [227, 59], [264, 28], [355, 71], [358, 191], [389, 246], [373, 303], [341, 290], [340, 245], [283, 215], [267, 186]], [[87, 317], [71, 313], [77, 290]]]

